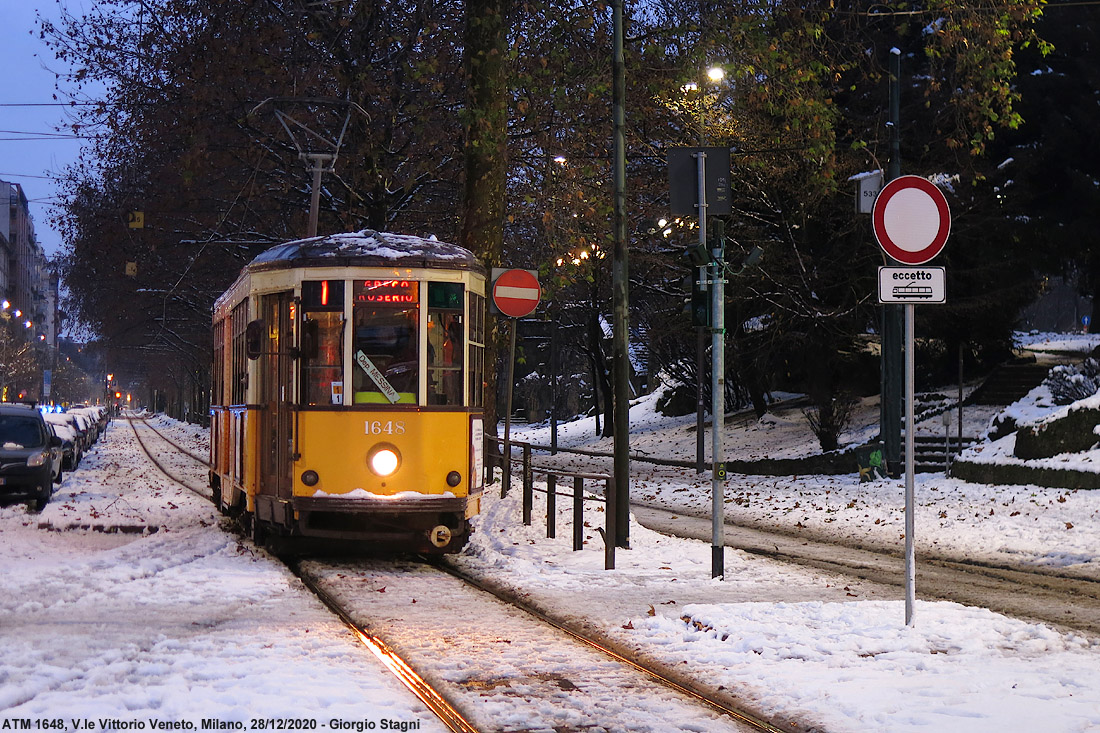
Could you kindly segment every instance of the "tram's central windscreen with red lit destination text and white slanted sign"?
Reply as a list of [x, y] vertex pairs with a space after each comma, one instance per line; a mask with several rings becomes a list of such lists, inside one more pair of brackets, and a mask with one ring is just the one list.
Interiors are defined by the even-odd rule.
[[355, 281], [353, 404], [417, 404], [420, 288], [416, 281]]

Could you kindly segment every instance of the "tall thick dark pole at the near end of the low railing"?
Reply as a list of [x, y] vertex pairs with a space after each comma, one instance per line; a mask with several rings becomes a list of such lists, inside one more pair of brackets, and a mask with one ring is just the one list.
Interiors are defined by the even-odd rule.
[[[630, 360], [627, 353], [629, 326], [629, 281], [626, 247], [626, 63], [623, 56], [623, 0], [612, 1], [615, 48], [612, 79], [613, 127], [615, 136], [615, 244], [612, 262], [612, 294], [615, 324], [613, 327], [615, 402], [615, 485], [614, 497], [608, 495], [607, 511], [614, 511], [615, 536], [608, 537], [612, 547], [630, 546]], [[608, 485], [608, 490], [613, 488]], [[612, 550], [614, 565], [614, 549]]]

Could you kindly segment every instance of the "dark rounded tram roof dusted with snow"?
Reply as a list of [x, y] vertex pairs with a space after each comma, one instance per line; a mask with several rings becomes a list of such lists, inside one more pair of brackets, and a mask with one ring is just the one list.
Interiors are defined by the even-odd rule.
[[295, 266], [302, 264], [302, 261], [329, 259], [380, 260], [387, 263], [395, 260], [413, 260], [414, 262], [405, 264], [429, 267], [433, 265], [479, 266], [477, 259], [473, 253], [458, 244], [449, 244], [435, 238], [426, 239], [413, 234], [395, 234], [372, 229], [311, 237], [276, 244], [256, 255], [249, 266], [250, 269], [264, 264], [277, 266], [276, 263], [284, 266]]

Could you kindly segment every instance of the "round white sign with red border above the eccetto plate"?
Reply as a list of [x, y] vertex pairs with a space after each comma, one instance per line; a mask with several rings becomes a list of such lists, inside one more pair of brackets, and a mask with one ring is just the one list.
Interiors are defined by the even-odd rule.
[[952, 212], [947, 197], [931, 180], [900, 176], [875, 199], [871, 222], [883, 252], [902, 264], [919, 265], [943, 251]]

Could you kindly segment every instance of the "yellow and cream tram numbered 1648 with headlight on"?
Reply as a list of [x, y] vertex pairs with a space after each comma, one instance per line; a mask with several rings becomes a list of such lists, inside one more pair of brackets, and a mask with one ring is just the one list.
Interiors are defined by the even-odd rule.
[[215, 501], [265, 541], [460, 549], [484, 354], [485, 271], [463, 248], [364, 230], [267, 250], [213, 307]]

